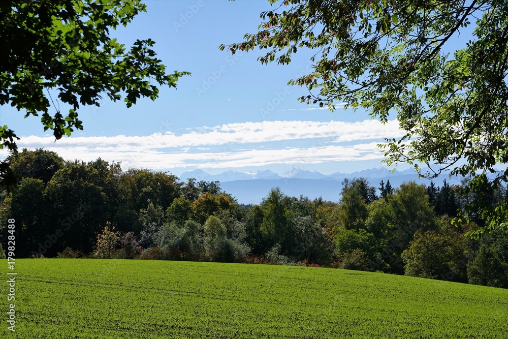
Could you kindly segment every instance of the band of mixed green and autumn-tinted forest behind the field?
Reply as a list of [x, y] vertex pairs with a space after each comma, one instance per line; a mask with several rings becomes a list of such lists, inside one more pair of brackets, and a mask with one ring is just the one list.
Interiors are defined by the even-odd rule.
[[[274, 188], [259, 205], [242, 205], [218, 181], [122, 171], [100, 158], [68, 161], [23, 149], [7, 161], [18, 186], [0, 195], [0, 243], [8, 252], [4, 228], [14, 219], [16, 258], [302, 265], [508, 288], [508, 234], [470, 236], [489, 220], [464, 210], [475, 201], [495, 208], [507, 198], [505, 187], [466, 193], [467, 178], [397, 188], [351, 178], [338, 202]], [[469, 222], [452, 225], [462, 216]]]

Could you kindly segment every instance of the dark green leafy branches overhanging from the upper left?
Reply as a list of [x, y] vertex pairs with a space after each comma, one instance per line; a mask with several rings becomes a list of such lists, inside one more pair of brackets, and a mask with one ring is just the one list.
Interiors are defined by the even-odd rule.
[[[131, 107], [141, 97], [155, 100], [157, 84], [176, 87], [189, 73], [166, 74], [151, 39], [126, 48], [110, 37], [110, 30], [126, 26], [140, 12], [146, 12], [141, 0], [3, 2], [0, 106], [9, 104], [25, 117], [42, 113], [44, 130], [58, 140], [81, 130], [77, 111], [100, 106], [103, 96], [113, 101], [124, 96]], [[60, 112], [60, 106], [69, 113]], [[0, 147], [16, 153], [16, 139], [13, 130], [0, 128]], [[0, 163], [0, 176], [0, 184], [12, 191], [16, 177], [6, 161]]]

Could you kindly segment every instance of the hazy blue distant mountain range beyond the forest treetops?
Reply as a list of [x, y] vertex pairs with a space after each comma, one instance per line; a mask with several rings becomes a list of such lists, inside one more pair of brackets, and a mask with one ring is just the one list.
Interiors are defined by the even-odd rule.
[[[272, 188], [280, 190], [289, 196], [306, 196], [309, 199], [322, 197], [324, 200], [338, 201], [342, 189], [342, 180], [358, 177], [367, 178], [371, 185], [379, 188], [381, 180], [388, 181], [396, 188], [404, 181], [414, 180], [418, 183], [429, 184], [430, 180], [418, 178], [414, 169], [403, 171], [395, 170], [393, 173], [386, 168], [372, 168], [354, 173], [333, 173], [325, 175], [320, 172], [310, 172], [302, 169], [293, 169], [283, 175], [270, 170], [257, 171], [255, 173], [243, 173], [226, 171], [220, 174], [208, 174], [203, 170], [184, 172], [180, 180], [196, 178], [197, 181], [220, 181], [220, 187], [227, 193], [236, 197], [241, 204], [259, 204], [268, 195]], [[450, 178], [448, 174], [441, 174], [433, 179], [436, 186], [442, 186], [443, 180], [448, 183], [460, 183], [461, 177]], [[379, 193], [379, 192], [378, 192]]]

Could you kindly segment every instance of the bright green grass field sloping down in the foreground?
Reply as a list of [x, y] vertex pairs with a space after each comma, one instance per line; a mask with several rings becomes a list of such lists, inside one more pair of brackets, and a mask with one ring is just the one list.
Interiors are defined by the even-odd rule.
[[[7, 284], [7, 261], [2, 270]], [[507, 338], [508, 290], [339, 269], [16, 260], [1, 338]]]

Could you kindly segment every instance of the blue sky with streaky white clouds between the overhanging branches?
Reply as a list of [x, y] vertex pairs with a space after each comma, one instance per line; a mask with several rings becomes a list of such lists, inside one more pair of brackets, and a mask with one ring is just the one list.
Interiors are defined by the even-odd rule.
[[[147, 13], [113, 32], [121, 43], [151, 38], [168, 72], [192, 72], [178, 89], [126, 108], [104, 101], [79, 111], [83, 131], [54, 141], [37, 117], [0, 107], [0, 124], [22, 137], [20, 148], [44, 147], [65, 159], [121, 161], [122, 168], [174, 174], [203, 169], [252, 172], [292, 169], [324, 174], [382, 166], [376, 144], [400, 137], [396, 121], [383, 126], [366, 112], [305, 105], [305, 88], [287, 85], [310, 71], [310, 52], [288, 66], [261, 65], [258, 51], [234, 56], [218, 46], [257, 32], [268, 1], [147, 1]], [[340, 105], [339, 105], [340, 106]], [[7, 153], [0, 150], [0, 158]], [[406, 167], [400, 167], [406, 168]]]

